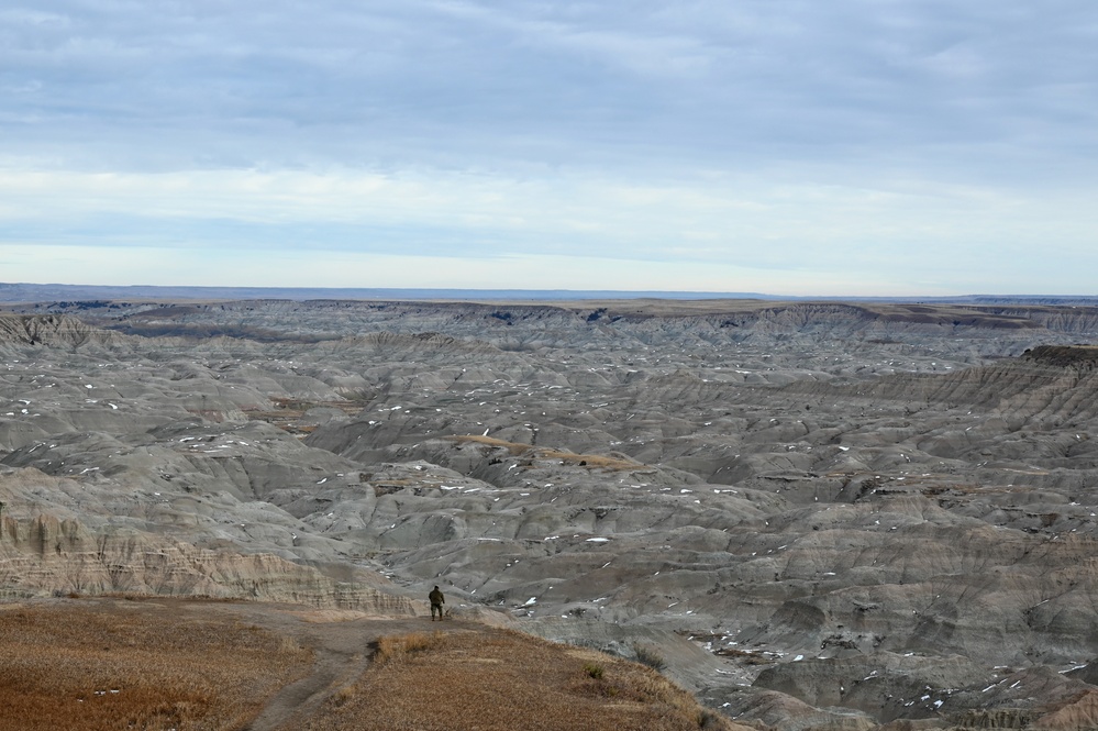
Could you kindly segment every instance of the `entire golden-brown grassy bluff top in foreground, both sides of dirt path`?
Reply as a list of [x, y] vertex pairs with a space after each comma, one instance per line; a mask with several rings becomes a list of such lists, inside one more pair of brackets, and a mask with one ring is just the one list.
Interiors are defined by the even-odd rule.
[[651, 667], [591, 650], [474, 622], [300, 613], [156, 598], [0, 605], [0, 731], [744, 728]]

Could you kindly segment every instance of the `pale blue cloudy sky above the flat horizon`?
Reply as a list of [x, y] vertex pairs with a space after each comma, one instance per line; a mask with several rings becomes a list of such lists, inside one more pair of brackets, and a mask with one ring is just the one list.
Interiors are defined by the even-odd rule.
[[0, 281], [1098, 295], [1094, 0], [7, 0]]

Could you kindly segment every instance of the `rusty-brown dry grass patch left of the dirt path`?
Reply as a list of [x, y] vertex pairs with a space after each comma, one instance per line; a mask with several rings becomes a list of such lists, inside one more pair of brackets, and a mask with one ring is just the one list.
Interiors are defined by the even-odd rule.
[[311, 653], [156, 607], [0, 608], [0, 729], [240, 729]]

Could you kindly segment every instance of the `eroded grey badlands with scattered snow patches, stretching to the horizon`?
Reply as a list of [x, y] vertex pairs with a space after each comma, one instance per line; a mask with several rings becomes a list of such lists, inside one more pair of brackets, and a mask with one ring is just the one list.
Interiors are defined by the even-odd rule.
[[9, 306], [0, 598], [425, 616], [437, 584], [658, 655], [740, 723], [1095, 728], [1096, 333], [1011, 303]]

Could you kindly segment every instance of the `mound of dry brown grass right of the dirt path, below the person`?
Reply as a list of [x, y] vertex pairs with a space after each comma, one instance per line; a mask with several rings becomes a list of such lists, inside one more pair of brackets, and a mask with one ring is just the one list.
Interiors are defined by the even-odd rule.
[[655, 671], [507, 630], [384, 638], [311, 731], [735, 729]]

